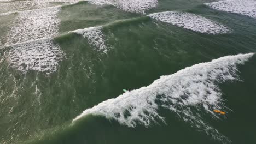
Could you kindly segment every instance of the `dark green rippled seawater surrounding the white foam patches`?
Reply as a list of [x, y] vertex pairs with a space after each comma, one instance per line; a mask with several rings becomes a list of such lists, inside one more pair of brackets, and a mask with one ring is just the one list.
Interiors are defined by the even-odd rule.
[[[25, 3], [0, 1], [0, 5], [15, 2]], [[214, 139], [164, 107], [157, 111], [165, 122], [152, 122], [148, 127], [139, 123], [128, 127], [101, 115], [73, 122], [84, 110], [117, 98], [123, 89], [146, 87], [162, 75], [202, 62], [256, 52], [256, 19], [203, 5], [209, 2], [214, 1], [159, 0], [145, 14], [89, 2], [50, 3], [49, 7], [62, 5], [53, 41], [65, 53], [50, 74], [11, 67], [13, 46], [4, 43], [20, 12], [0, 15], [0, 143], [256, 143], [256, 56], [238, 65], [239, 80], [216, 84], [224, 99], [225, 116], [214, 118], [194, 107], [226, 140]], [[0, 12], [38, 9], [32, 6], [5, 6]], [[228, 26], [231, 32], [199, 33], [147, 16], [172, 10], [206, 17]], [[99, 26], [107, 52], [71, 32]]]

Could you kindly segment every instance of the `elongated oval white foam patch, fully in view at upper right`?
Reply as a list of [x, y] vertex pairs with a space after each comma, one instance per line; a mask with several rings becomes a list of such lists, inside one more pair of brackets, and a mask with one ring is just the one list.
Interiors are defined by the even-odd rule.
[[181, 11], [165, 11], [148, 15], [153, 19], [171, 23], [178, 27], [208, 34], [227, 33], [230, 28], [205, 17]]

